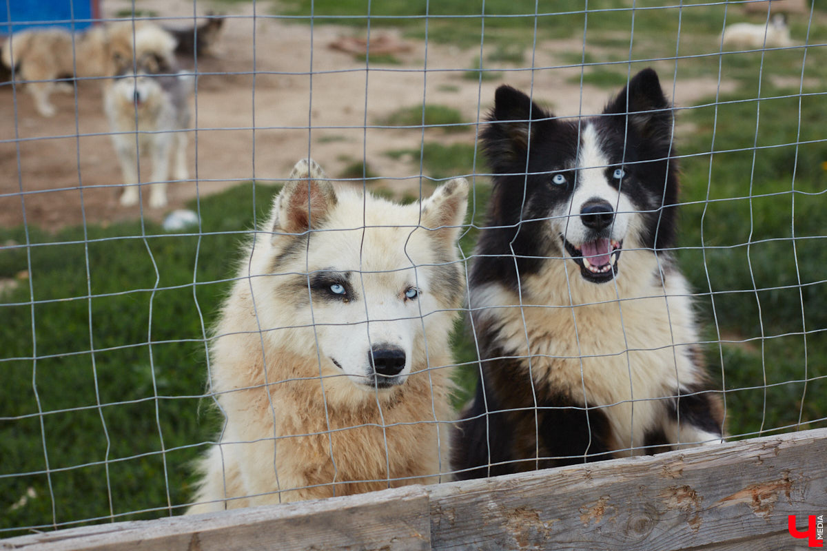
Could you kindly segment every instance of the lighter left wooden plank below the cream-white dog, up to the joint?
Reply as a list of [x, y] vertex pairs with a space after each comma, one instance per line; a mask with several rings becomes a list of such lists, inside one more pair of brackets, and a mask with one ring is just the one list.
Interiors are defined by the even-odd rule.
[[256, 551], [430, 549], [428, 493], [420, 486], [160, 520], [57, 530], [0, 540], [23, 551]]

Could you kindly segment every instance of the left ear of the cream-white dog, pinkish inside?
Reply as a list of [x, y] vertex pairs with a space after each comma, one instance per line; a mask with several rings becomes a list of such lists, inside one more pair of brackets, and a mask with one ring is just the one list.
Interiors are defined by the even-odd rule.
[[275, 200], [272, 230], [300, 234], [317, 229], [336, 207], [333, 184], [313, 159], [301, 159]]

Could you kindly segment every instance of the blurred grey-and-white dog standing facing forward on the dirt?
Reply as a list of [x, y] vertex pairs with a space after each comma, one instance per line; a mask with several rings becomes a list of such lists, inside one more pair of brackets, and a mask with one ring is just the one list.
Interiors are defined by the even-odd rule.
[[175, 39], [170, 33], [154, 25], [141, 26], [135, 33], [134, 54], [120, 60], [117, 76], [104, 97], [112, 143], [127, 185], [121, 196], [124, 207], [136, 205], [140, 199], [139, 159], [143, 153], [152, 164], [151, 208], [166, 206], [170, 160], [175, 180], [189, 178], [186, 130], [193, 77], [178, 73], [174, 50]]

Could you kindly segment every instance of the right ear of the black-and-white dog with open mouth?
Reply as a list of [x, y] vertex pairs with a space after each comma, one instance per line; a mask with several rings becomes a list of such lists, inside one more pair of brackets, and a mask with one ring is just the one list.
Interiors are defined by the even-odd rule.
[[644, 138], [664, 137], [672, 131], [672, 105], [654, 69], [643, 69], [609, 102], [606, 115], [628, 116]]

